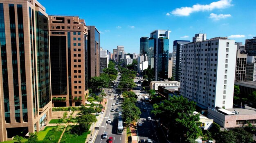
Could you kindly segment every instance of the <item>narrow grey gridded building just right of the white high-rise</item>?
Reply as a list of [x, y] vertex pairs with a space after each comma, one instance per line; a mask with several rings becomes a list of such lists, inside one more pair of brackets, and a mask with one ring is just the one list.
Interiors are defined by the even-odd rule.
[[245, 81], [246, 76], [246, 60], [247, 60], [247, 53], [245, 52], [245, 45], [242, 42], [237, 43], [236, 50], [236, 81]]

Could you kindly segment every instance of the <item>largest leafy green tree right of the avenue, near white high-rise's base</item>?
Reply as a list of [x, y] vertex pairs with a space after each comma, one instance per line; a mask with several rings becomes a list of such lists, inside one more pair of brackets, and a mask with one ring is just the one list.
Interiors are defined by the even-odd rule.
[[154, 110], [151, 111], [155, 116], [160, 117], [173, 137], [180, 137], [186, 134], [186, 137], [196, 139], [202, 135], [199, 114], [193, 115], [195, 111], [195, 102], [189, 102], [186, 98], [170, 97], [170, 100], [164, 100], [161, 104], [154, 104]]

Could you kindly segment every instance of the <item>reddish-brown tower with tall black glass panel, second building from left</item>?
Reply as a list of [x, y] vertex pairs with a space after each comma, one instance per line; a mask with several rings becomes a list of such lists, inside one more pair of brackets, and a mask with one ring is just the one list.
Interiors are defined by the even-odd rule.
[[88, 95], [88, 28], [78, 16], [50, 15], [52, 102], [85, 104]]

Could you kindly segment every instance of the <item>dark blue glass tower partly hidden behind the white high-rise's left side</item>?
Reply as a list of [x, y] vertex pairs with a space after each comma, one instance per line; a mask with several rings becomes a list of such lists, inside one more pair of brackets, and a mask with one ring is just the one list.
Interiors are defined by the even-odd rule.
[[183, 44], [190, 43], [187, 40], [175, 40], [173, 41], [173, 66], [172, 76], [176, 81], [180, 81], [180, 52]]

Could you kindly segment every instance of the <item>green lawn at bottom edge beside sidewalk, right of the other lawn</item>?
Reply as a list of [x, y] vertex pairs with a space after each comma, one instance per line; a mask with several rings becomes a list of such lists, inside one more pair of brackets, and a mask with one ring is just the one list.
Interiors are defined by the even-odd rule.
[[75, 136], [74, 134], [69, 134], [65, 132], [61, 138], [61, 143], [85, 143], [87, 134], [90, 134], [91, 131], [83, 132], [81, 135]]

